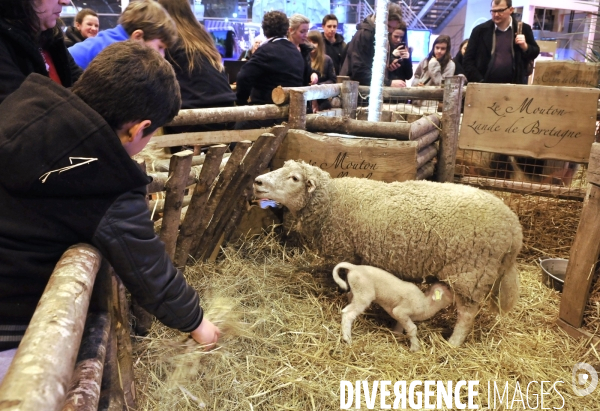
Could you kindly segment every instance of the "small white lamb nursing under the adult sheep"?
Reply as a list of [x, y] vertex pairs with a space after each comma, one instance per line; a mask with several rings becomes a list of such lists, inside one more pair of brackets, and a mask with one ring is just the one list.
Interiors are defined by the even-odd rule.
[[[341, 269], [348, 270], [346, 281], [338, 274]], [[333, 279], [343, 290], [350, 289], [350, 304], [342, 310], [342, 338], [348, 344], [352, 339], [352, 323], [372, 302], [376, 302], [397, 321], [395, 332], [401, 334], [406, 330], [410, 350], [419, 351], [421, 346], [413, 321], [433, 317], [452, 304], [454, 299], [452, 291], [443, 283], [436, 283], [423, 293], [415, 284], [370, 265], [339, 263], [333, 269]]]

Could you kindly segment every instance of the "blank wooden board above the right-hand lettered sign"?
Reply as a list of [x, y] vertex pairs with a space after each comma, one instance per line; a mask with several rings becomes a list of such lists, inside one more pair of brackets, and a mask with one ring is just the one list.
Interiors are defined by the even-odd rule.
[[537, 61], [533, 85], [561, 87], [598, 86], [600, 64], [580, 61]]

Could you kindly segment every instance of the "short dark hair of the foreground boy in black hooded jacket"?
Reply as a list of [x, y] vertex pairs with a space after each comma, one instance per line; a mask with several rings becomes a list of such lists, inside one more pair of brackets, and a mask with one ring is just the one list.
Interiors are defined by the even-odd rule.
[[144, 136], [171, 121], [181, 107], [173, 67], [156, 50], [132, 40], [102, 50], [72, 91], [113, 130], [150, 120]]

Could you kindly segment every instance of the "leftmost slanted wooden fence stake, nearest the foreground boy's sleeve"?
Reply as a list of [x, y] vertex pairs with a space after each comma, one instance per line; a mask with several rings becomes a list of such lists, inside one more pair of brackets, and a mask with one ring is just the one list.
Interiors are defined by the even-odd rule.
[[165, 212], [160, 229], [160, 239], [165, 243], [165, 249], [171, 259], [175, 255], [177, 231], [179, 231], [181, 208], [183, 207], [182, 200], [192, 167], [193, 155], [194, 152], [191, 150], [173, 154], [169, 167], [169, 179], [165, 184]]

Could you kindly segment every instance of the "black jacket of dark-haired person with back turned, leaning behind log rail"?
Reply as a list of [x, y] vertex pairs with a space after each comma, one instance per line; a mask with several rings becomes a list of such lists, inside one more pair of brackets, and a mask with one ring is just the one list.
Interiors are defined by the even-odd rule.
[[256, 49], [240, 69], [237, 104], [248, 104], [248, 97], [252, 104], [273, 104], [274, 88], [307, 86], [305, 77], [306, 62], [296, 46], [286, 38], [272, 38]]

